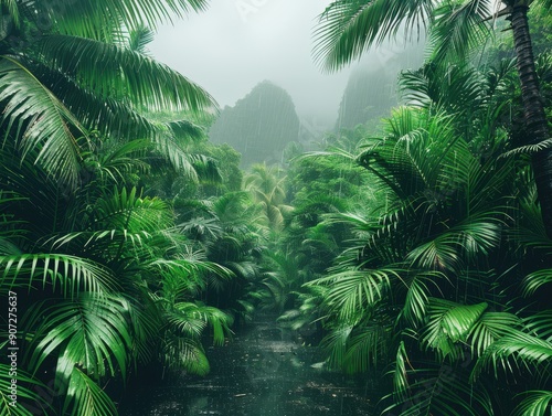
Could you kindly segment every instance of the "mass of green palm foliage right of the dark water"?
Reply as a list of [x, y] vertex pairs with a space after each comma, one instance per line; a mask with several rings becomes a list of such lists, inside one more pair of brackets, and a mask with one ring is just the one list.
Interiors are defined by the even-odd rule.
[[[452, 14], [434, 17], [433, 3], [335, 2], [320, 51], [348, 60], [420, 15], [437, 36], [432, 19]], [[550, 238], [528, 156], [546, 142], [520, 142], [513, 62], [476, 66], [455, 54], [447, 66], [439, 54], [453, 46], [434, 38], [431, 47], [422, 68], [402, 74], [405, 106], [382, 135], [305, 159], [354, 162], [371, 192], [320, 218], [349, 237], [305, 285], [298, 311], [321, 324], [328, 366], [386, 381], [374, 391], [383, 397], [375, 413], [546, 415]], [[537, 60], [543, 85], [548, 60]]]

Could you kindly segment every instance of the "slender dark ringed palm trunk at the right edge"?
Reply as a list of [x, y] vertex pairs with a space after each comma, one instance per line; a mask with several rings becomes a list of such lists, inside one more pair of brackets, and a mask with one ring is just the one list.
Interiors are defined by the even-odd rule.
[[[539, 78], [534, 70], [533, 47], [527, 19], [528, 10], [526, 4], [513, 6], [511, 23], [521, 82], [527, 145], [537, 145], [549, 139], [550, 136]], [[552, 238], [552, 149], [543, 149], [533, 153], [532, 167], [544, 228], [546, 235]]]

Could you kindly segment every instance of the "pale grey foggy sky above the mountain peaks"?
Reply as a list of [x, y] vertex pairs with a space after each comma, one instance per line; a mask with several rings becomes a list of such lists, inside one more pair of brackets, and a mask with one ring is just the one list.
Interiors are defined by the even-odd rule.
[[269, 79], [287, 89], [300, 116], [337, 118], [351, 68], [323, 74], [312, 62], [312, 28], [330, 0], [212, 0], [158, 30], [152, 55], [204, 87], [221, 107]]

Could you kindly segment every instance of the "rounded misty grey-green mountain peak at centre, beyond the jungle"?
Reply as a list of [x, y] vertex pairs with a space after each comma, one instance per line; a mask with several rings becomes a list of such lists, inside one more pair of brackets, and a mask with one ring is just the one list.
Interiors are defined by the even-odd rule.
[[229, 143], [242, 153], [242, 166], [277, 162], [299, 135], [299, 118], [290, 95], [264, 81], [234, 107], [226, 106], [209, 131], [215, 143]]

